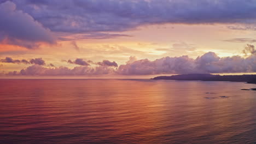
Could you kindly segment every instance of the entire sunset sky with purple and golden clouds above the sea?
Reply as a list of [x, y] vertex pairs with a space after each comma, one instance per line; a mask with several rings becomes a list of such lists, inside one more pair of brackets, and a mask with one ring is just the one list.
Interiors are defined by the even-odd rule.
[[256, 73], [256, 0], [0, 0], [0, 77]]

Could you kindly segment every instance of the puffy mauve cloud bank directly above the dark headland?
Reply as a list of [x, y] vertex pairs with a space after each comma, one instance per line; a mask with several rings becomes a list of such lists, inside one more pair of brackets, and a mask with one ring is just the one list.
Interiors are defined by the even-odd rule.
[[256, 72], [256, 55], [248, 47], [251, 55], [220, 58], [214, 52], [207, 52], [196, 59], [188, 56], [164, 57], [149, 61], [141, 59], [133, 63], [120, 65], [120, 75], [154, 75], [154, 74], [191, 74], [191, 73], [254, 73]]

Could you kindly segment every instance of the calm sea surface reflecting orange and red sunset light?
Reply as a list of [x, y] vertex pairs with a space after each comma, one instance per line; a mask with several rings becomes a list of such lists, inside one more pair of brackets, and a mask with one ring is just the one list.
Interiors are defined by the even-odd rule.
[[241, 88], [256, 85], [0, 80], [0, 143], [256, 143], [256, 91]]

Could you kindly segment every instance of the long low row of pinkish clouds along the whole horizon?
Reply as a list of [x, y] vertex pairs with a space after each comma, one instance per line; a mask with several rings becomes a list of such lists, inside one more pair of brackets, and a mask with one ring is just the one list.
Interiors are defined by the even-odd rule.
[[[256, 73], [256, 53], [252, 45], [245, 48], [247, 57], [232, 56], [219, 57], [214, 52], [207, 52], [195, 59], [189, 56], [163, 57], [155, 61], [148, 59], [137, 60], [130, 57], [126, 64], [104, 60], [94, 63], [77, 58], [74, 62], [79, 67], [55, 67], [46, 68], [43, 64], [35, 63], [19, 72], [11, 72], [9, 75], [156, 75], [156, 74], [191, 74], [191, 73]], [[3, 59], [2, 59], [3, 60]], [[4, 62], [15, 60], [4, 59]], [[67, 62], [67, 61], [66, 61]], [[88, 63], [93, 65], [89, 65]]]

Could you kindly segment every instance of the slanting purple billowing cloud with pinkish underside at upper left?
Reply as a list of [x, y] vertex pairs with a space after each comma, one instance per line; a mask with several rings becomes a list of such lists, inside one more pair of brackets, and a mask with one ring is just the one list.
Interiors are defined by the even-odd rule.
[[42, 42], [54, 44], [55, 38], [30, 14], [16, 9], [14, 2], [6, 1], [0, 4], [0, 42], [34, 49]]

